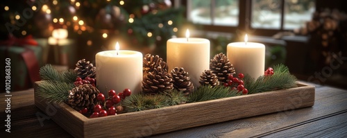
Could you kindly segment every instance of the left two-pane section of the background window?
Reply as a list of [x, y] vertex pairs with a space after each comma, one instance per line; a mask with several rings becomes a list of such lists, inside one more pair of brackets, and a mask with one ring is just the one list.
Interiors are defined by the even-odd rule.
[[238, 0], [190, 0], [189, 21], [196, 24], [237, 26], [239, 24]]

